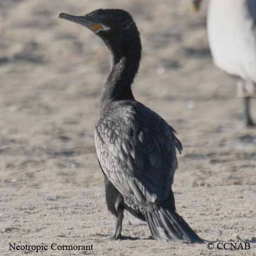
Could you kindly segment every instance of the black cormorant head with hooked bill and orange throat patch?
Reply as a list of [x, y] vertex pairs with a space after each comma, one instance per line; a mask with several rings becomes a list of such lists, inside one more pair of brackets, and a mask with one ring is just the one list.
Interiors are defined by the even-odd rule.
[[141, 41], [132, 16], [121, 9], [98, 9], [84, 16], [61, 13], [59, 18], [83, 25], [101, 37], [114, 55], [120, 55], [129, 49], [139, 48]]

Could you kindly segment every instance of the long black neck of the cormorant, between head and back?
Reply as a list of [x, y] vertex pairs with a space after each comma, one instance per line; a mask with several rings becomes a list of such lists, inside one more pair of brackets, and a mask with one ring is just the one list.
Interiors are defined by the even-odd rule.
[[138, 35], [136, 36], [135, 40], [132, 40], [132, 44], [127, 47], [124, 47], [119, 40], [116, 41], [117, 44], [105, 42], [110, 51], [111, 69], [102, 91], [102, 110], [109, 102], [135, 100], [131, 84], [141, 59], [141, 40]]

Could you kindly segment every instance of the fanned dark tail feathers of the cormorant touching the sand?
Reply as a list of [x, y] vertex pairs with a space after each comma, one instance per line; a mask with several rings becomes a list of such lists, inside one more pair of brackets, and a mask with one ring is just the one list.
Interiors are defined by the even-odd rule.
[[205, 240], [196, 235], [195, 231], [173, 210], [160, 207], [158, 210], [147, 211], [146, 221], [152, 236], [156, 240], [185, 240], [189, 243], [203, 243]]

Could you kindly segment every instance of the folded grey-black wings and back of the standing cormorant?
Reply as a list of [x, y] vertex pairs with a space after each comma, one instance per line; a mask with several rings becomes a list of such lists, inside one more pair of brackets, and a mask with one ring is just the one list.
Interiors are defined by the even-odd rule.
[[170, 195], [178, 166], [174, 130], [158, 114], [136, 101], [109, 104], [95, 129], [104, 174], [129, 205], [147, 206]]

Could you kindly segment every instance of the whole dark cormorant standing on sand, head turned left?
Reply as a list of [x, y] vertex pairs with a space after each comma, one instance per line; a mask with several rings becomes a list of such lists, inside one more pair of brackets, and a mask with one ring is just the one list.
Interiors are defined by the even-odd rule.
[[113, 240], [121, 238], [124, 210], [148, 223], [156, 240], [203, 242], [176, 213], [172, 193], [182, 144], [158, 114], [135, 100], [131, 84], [139, 68], [141, 40], [127, 11], [99, 9], [85, 16], [60, 14], [101, 37], [111, 70], [95, 128], [98, 162], [105, 179], [108, 210], [116, 219]]

